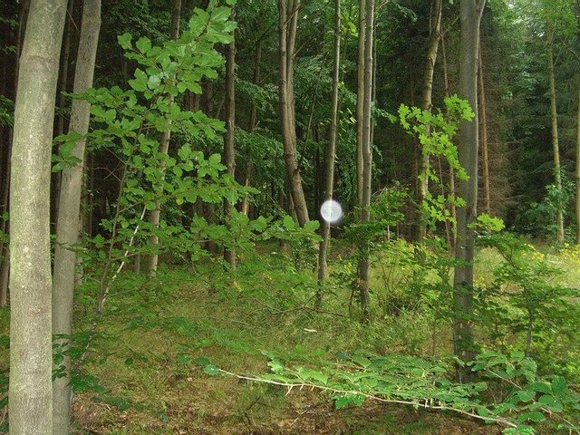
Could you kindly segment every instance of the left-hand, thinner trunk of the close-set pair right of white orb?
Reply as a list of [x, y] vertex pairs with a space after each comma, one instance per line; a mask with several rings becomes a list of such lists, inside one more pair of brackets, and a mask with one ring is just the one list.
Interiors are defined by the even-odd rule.
[[356, 76], [356, 206], [357, 214], [361, 215], [362, 208], [362, 109], [364, 106], [364, 42], [365, 26], [364, 14], [366, 0], [359, 0], [359, 37], [357, 47], [357, 76]]

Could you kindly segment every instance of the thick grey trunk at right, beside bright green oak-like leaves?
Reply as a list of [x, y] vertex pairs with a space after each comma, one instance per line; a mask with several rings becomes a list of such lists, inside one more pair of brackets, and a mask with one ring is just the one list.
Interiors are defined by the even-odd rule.
[[[478, 210], [478, 49], [479, 24], [485, 0], [461, 0], [461, 48], [459, 63], [459, 93], [475, 112], [473, 121], [459, 125], [459, 162], [469, 175], [469, 180], [459, 181], [459, 196], [466, 205], [458, 210], [457, 243], [455, 257], [458, 262], [453, 279], [453, 344], [455, 354], [463, 362], [474, 356], [471, 317], [473, 315], [473, 259], [475, 233], [471, 223]], [[468, 371], [460, 368], [459, 379], [465, 380]]]

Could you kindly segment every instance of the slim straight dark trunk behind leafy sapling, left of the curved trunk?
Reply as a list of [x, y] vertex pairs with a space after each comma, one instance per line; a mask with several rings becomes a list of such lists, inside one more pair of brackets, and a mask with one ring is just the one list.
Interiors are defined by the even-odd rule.
[[[236, 12], [232, 9], [231, 19], [236, 18]], [[227, 46], [226, 54], [226, 135], [224, 136], [224, 164], [227, 167], [227, 174], [232, 178], [236, 177], [236, 154], [234, 150], [234, 135], [236, 129], [236, 32], [232, 32], [232, 42]], [[226, 224], [232, 218], [234, 205], [224, 199], [224, 209], [226, 211]], [[231, 249], [224, 250], [224, 259], [231, 269], [236, 269], [236, 252]]]

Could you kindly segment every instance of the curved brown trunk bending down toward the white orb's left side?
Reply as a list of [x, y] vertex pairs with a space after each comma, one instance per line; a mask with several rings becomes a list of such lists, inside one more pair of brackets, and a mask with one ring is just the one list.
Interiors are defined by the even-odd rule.
[[294, 201], [296, 217], [301, 227], [308, 222], [308, 208], [298, 160], [296, 157], [296, 121], [294, 92], [294, 63], [296, 27], [300, 0], [278, 0], [279, 14], [279, 84], [280, 123], [284, 144], [286, 179]]

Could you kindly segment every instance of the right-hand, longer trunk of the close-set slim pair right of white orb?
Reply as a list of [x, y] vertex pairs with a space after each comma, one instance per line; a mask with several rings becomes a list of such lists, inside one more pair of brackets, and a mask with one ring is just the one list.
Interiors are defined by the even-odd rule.
[[[371, 194], [372, 194], [372, 147], [371, 147], [371, 109], [372, 109], [372, 43], [374, 22], [374, 0], [366, 0], [364, 14], [364, 86], [362, 104], [362, 223], [371, 221]], [[359, 286], [361, 295], [362, 320], [371, 320], [370, 293], [369, 293], [369, 256], [370, 240], [362, 244], [359, 260]]]

